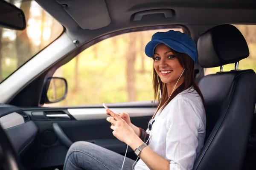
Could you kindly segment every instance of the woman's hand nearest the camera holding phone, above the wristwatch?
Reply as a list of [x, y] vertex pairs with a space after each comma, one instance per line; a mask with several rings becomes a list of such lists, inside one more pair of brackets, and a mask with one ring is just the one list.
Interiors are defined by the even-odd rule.
[[134, 130], [113, 111], [107, 109], [106, 112], [112, 116], [108, 117], [107, 121], [112, 124], [110, 128], [113, 130], [113, 135], [120, 141], [128, 144], [128, 141], [136, 135]]

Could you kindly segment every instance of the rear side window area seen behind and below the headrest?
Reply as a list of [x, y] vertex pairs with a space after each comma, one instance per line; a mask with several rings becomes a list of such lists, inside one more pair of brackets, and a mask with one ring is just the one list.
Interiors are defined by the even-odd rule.
[[[239, 69], [256, 70], [256, 25], [234, 25], [243, 34], [248, 46], [250, 55], [246, 59], [239, 61]], [[223, 71], [235, 69], [235, 64], [227, 64], [223, 66]], [[220, 67], [206, 68], [204, 75], [213, 74], [220, 71]]]

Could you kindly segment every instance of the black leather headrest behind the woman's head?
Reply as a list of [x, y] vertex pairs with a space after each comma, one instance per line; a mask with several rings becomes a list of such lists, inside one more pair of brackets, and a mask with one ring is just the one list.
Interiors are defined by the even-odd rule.
[[199, 63], [204, 68], [235, 63], [249, 56], [241, 32], [232, 25], [215, 26], [198, 39]]

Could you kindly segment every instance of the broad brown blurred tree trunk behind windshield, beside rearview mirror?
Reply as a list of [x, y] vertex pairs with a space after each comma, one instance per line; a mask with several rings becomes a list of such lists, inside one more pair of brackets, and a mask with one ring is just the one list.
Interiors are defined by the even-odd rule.
[[[31, 6], [31, 1], [22, 0], [20, 8], [24, 11], [26, 23], [29, 20], [29, 10]], [[29, 42], [29, 37], [26, 32], [26, 29], [23, 31], [17, 31], [17, 38], [16, 38], [16, 51], [17, 54], [17, 67], [23, 65], [28, 58], [31, 57], [31, 44]]]

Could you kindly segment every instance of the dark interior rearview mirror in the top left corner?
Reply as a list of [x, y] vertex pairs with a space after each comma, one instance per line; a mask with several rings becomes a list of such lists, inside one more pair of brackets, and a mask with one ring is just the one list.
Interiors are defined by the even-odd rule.
[[0, 27], [24, 30], [26, 20], [23, 11], [5, 0], [0, 0]]

